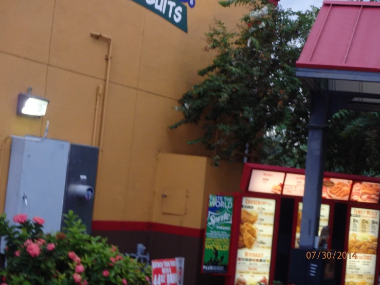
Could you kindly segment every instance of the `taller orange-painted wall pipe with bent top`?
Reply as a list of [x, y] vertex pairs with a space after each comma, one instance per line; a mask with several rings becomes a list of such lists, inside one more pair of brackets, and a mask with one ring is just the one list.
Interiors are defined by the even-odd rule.
[[[95, 187], [97, 187], [99, 183], [100, 165], [101, 165], [101, 159], [102, 159], [102, 153], [103, 153], [105, 114], [106, 114], [106, 107], [107, 107], [108, 83], [110, 83], [110, 69], [111, 69], [111, 58], [112, 58], [112, 38], [108, 37], [107, 35], [101, 34], [99, 32], [92, 32], [90, 34], [91, 34], [91, 37], [93, 37], [96, 40], [102, 39], [108, 42], [108, 55], [105, 56], [105, 60], [107, 61], [107, 73], [105, 76], [104, 98], [103, 98], [103, 105], [102, 105], [102, 120], [101, 120], [101, 127], [100, 127], [100, 136], [99, 136], [99, 158], [98, 158], [98, 171], [97, 171], [98, 174], [96, 175], [96, 184], [95, 184]], [[93, 133], [93, 141], [95, 141], [95, 132]]]

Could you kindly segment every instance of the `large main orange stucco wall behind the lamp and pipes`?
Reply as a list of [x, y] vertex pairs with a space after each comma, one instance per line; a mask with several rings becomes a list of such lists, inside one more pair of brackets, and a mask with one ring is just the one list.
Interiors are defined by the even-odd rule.
[[[200, 80], [196, 71], [212, 60], [202, 51], [201, 38], [213, 18], [233, 29], [243, 12], [222, 8], [216, 0], [198, 1], [188, 8], [186, 34], [131, 0], [0, 1], [0, 142], [9, 135], [42, 135], [49, 120], [49, 138], [90, 145], [107, 53], [107, 44], [90, 32], [110, 35], [113, 57], [94, 219], [150, 220], [157, 154], [210, 156], [202, 146], [186, 144], [199, 128], [168, 130], [180, 118], [171, 107]], [[43, 119], [15, 115], [17, 94], [28, 86], [50, 100]], [[101, 112], [100, 104], [96, 145]], [[0, 209], [10, 140], [3, 145]], [[199, 219], [196, 223], [190, 226], [199, 227]]]

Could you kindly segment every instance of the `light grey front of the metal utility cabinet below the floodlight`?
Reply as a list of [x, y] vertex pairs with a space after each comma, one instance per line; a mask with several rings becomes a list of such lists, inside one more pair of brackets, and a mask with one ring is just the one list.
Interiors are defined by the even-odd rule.
[[67, 141], [12, 138], [4, 208], [11, 223], [26, 213], [45, 219], [45, 232], [60, 230], [69, 150]]

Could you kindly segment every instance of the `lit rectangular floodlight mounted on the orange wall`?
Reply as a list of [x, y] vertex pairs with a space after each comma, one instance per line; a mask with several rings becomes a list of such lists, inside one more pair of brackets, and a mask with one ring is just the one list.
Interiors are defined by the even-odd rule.
[[17, 99], [17, 115], [28, 117], [41, 117], [45, 116], [49, 100], [34, 96], [30, 94], [31, 88], [29, 87], [28, 93], [20, 93]]

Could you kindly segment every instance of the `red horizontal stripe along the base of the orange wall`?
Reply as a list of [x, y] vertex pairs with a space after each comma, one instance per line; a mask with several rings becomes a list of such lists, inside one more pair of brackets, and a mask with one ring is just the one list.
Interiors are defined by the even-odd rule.
[[151, 222], [93, 221], [92, 230], [155, 231], [177, 236], [204, 237], [204, 229], [173, 226]]

